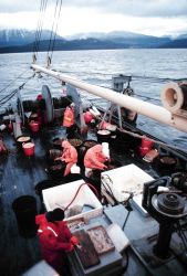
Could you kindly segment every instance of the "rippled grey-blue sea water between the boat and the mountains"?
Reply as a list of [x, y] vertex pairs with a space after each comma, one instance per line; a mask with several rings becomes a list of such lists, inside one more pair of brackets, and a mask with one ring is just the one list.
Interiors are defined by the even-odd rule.
[[[45, 64], [45, 53], [39, 53], [38, 64]], [[31, 53], [0, 55], [0, 91], [1, 97], [18, 88], [27, 77], [32, 75]], [[131, 86], [135, 97], [162, 105], [159, 95], [165, 78], [187, 78], [187, 50], [100, 50], [54, 52], [52, 68], [76, 76], [83, 81], [104, 87], [112, 87], [112, 75], [132, 75]], [[17, 78], [20, 74], [24, 74]], [[15, 82], [13, 82], [17, 78]], [[10, 82], [12, 84], [6, 89]], [[48, 84], [53, 95], [62, 92], [61, 83], [43, 75], [32, 78], [21, 91], [23, 98], [34, 98], [41, 93], [43, 84]], [[84, 93], [83, 93], [84, 94]], [[85, 97], [87, 96], [84, 94]], [[101, 99], [95, 99], [97, 105]], [[187, 150], [187, 134], [138, 116], [138, 127], [158, 138]]]

